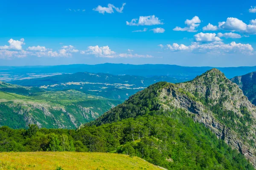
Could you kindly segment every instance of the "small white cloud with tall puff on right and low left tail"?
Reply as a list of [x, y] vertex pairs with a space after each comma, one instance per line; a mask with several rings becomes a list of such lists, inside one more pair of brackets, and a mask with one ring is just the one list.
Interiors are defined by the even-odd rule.
[[186, 20], [185, 24], [187, 25], [184, 28], [176, 26], [173, 28], [173, 31], [188, 31], [188, 32], [196, 32], [195, 28], [200, 26], [201, 20], [199, 19], [198, 16], [193, 17], [191, 20]]

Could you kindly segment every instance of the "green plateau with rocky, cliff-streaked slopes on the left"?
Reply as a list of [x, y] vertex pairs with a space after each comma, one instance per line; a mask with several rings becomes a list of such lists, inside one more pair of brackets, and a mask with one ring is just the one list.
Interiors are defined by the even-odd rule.
[[74, 129], [119, 103], [76, 90], [42, 91], [0, 82], [0, 126]]

